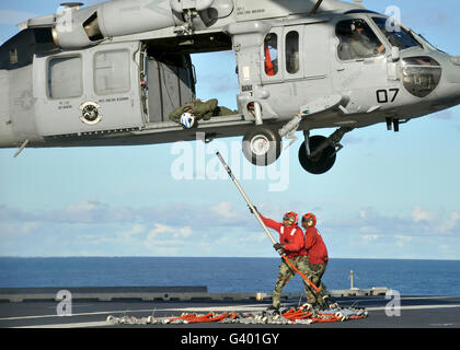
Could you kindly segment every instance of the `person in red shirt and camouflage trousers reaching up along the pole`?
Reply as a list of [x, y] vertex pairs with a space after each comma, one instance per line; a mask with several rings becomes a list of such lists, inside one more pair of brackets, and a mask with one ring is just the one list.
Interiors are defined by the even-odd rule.
[[[279, 243], [275, 244], [273, 247], [276, 250], [281, 249], [283, 253], [287, 256], [289, 261], [297, 268], [299, 271], [303, 272], [308, 270], [308, 264], [306, 261], [303, 253], [303, 232], [297, 225], [298, 215], [297, 213], [289, 211], [283, 218], [283, 223], [276, 222], [272, 219], [267, 219], [258, 213], [262, 221], [268, 228], [276, 230], [279, 233]], [[303, 272], [304, 273], [304, 272]], [[278, 312], [280, 305], [280, 298], [283, 288], [290, 281], [290, 279], [296, 275], [296, 271], [284, 260], [281, 259], [281, 265], [279, 266], [278, 279], [275, 284], [275, 290], [273, 292], [273, 305], [268, 307], [268, 311]], [[303, 281], [307, 285], [307, 282]], [[307, 290], [307, 288], [306, 288]]]

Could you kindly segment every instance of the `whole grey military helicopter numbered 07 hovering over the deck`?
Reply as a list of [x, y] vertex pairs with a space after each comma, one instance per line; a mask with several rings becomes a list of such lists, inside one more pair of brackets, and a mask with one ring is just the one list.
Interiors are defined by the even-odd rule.
[[[332, 168], [343, 137], [460, 104], [460, 57], [361, 1], [114, 0], [21, 23], [0, 47], [0, 148], [158, 144], [243, 137], [258, 166], [283, 139], [301, 166]], [[184, 127], [191, 55], [232, 50], [238, 113]], [[314, 129], [334, 128], [327, 137]]]

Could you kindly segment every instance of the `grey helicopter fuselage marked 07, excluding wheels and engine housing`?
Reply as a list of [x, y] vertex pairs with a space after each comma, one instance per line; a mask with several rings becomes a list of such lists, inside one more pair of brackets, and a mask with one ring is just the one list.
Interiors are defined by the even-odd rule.
[[[106, 24], [113, 36], [94, 45], [79, 48], [68, 35], [74, 48], [35, 51], [42, 43], [31, 25], [2, 47], [0, 147], [163, 143], [195, 140], [197, 131], [212, 139], [242, 136], [254, 122], [280, 129], [296, 116], [296, 130], [353, 129], [460, 103], [458, 58], [407, 30], [410, 47], [391, 43], [378, 25], [387, 16], [345, 10], [264, 19], [237, 8], [193, 34], [177, 34], [180, 22], [126, 35]], [[365, 26], [370, 54], [356, 48], [363, 43], [350, 26]], [[184, 130], [168, 115], [195, 96], [191, 55], [215, 50], [234, 51], [238, 114]]]

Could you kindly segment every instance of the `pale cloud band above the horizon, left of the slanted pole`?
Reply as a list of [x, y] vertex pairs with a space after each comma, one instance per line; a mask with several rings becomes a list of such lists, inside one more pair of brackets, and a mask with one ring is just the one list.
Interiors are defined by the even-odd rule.
[[251, 252], [272, 252], [246, 207], [240, 209], [229, 201], [129, 208], [88, 200], [33, 211], [2, 206], [0, 219], [3, 256], [74, 256], [82, 252], [92, 256], [251, 256]]

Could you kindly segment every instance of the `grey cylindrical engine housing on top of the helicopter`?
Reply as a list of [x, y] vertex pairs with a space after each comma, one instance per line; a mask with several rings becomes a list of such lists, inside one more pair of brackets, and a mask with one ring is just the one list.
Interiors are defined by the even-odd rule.
[[[64, 49], [96, 45], [104, 38], [181, 26], [192, 11], [203, 19], [217, 20], [233, 11], [231, 0], [117, 0], [80, 9], [81, 3], [64, 3], [51, 30], [54, 42]], [[202, 19], [202, 20], [203, 20]]]

